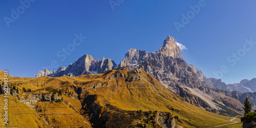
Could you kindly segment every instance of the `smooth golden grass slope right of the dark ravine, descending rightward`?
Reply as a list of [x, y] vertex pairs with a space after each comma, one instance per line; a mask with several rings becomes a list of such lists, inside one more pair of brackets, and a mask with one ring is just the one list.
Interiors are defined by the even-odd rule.
[[[121, 72], [128, 75], [126, 71]], [[178, 116], [181, 122], [177, 123], [185, 127], [207, 127], [230, 123], [226, 116], [210, 113], [186, 103], [183, 98], [167, 90], [146, 72], [141, 71], [138, 75], [141, 81], [125, 82], [124, 78], [117, 78], [109, 82], [112, 83], [109, 87], [91, 89], [88, 92], [97, 95], [97, 102], [101, 106], [110, 103], [123, 110], [170, 112]]]

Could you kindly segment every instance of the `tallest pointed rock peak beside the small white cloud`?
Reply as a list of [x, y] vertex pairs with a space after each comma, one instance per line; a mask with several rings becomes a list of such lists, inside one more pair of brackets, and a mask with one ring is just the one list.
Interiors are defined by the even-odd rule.
[[164, 54], [165, 56], [173, 57], [173, 58], [181, 58], [181, 51], [175, 39], [167, 35], [166, 39], [163, 42], [163, 46], [156, 53]]

